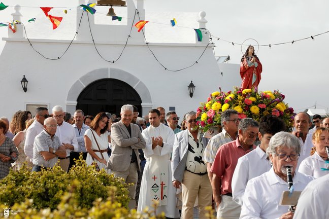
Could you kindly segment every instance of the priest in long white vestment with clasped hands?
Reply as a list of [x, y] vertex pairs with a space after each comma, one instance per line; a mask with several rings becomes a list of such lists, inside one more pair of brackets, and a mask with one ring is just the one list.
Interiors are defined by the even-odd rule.
[[180, 217], [176, 208], [176, 189], [172, 185], [170, 156], [173, 151], [175, 133], [160, 123], [160, 112], [151, 109], [150, 126], [143, 130], [146, 141], [143, 149], [146, 165], [143, 172], [137, 210], [142, 212], [152, 200], [158, 201], [156, 213], [164, 212], [166, 217]]

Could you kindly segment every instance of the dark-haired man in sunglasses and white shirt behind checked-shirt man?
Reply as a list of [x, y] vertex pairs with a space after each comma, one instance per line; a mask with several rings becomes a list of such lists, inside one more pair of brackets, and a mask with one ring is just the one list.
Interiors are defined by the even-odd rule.
[[26, 155], [27, 165], [33, 167], [33, 143], [35, 137], [44, 130], [44, 121], [49, 117], [49, 112], [46, 107], [36, 108], [35, 121], [28, 127], [24, 143], [24, 153]]

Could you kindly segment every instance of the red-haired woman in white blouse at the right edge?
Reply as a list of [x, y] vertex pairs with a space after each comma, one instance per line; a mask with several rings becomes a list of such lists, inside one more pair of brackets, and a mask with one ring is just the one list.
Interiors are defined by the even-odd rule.
[[329, 129], [317, 128], [313, 133], [312, 140], [316, 151], [302, 161], [299, 172], [318, 178], [329, 173], [329, 160], [325, 152], [325, 146], [329, 146]]

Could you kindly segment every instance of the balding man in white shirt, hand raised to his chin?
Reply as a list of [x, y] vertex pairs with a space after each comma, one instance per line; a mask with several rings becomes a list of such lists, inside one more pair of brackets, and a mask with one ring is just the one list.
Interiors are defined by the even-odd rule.
[[313, 142], [312, 142], [312, 132], [309, 132], [309, 128], [312, 125], [311, 123], [311, 117], [305, 112], [298, 113], [294, 117], [294, 127], [296, 131], [294, 131], [292, 134], [297, 136], [301, 142], [301, 156], [298, 160], [298, 167], [301, 164], [301, 162], [310, 156], [311, 149], [313, 148]]

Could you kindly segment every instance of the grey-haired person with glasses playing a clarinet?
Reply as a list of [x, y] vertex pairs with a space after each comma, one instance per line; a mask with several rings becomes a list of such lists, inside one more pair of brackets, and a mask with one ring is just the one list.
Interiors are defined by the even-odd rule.
[[288, 206], [280, 205], [282, 192], [288, 191], [287, 167], [291, 171], [294, 191], [304, 190], [314, 179], [312, 176], [297, 171], [300, 152], [299, 139], [290, 133], [281, 131], [271, 138], [267, 154], [272, 162], [272, 168], [248, 181], [243, 197], [241, 219], [292, 219], [293, 210], [288, 211]]

